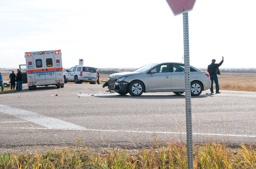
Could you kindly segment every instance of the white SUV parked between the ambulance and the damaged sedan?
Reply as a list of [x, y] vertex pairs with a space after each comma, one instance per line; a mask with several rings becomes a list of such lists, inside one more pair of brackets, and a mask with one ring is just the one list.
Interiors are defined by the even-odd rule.
[[63, 73], [64, 82], [74, 81], [76, 84], [82, 82], [90, 82], [90, 84], [96, 84], [98, 74], [95, 67], [86, 66], [74, 66]]

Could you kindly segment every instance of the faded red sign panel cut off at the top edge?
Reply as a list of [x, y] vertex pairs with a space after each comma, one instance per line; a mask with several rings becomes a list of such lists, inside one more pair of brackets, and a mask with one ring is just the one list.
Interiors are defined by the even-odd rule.
[[192, 11], [196, 0], [166, 0], [174, 16]]

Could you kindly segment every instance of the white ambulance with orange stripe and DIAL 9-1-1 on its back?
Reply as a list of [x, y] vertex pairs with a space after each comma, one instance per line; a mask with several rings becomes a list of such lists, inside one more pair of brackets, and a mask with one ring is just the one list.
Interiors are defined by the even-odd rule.
[[22, 82], [28, 89], [55, 85], [64, 88], [61, 50], [25, 52], [26, 65], [20, 65]]

